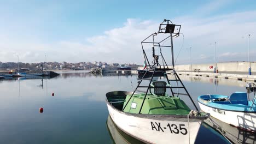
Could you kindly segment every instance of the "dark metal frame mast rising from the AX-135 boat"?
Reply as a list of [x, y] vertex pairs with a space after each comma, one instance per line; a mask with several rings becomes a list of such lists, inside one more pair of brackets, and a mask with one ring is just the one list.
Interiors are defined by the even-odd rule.
[[[150, 88], [154, 88], [151, 86], [151, 82], [153, 80], [153, 77], [156, 76], [156, 73], [164, 73], [165, 77], [166, 77], [166, 80], [167, 80], [167, 83], [168, 85], [165, 86], [165, 88], [170, 88], [170, 91], [172, 93], [172, 95], [170, 95], [171, 97], [175, 97], [175, 96], [179, 96], [179, 95], [187, 95], [190, 100], [192, 101], [193, 105], [195, 106], [196, 110], [197, 107], [193, 101], [193, 99], [191, 98], [190, 94], [188, 93], [187, 89], [185, 88], [183, 82], [181, 81], [181, 79], [179, 78], [178, 74], [176, 73], [176, 71], [174, 70], [174, 53], [173, 53], [173, 37], [178, 37], [179, 36], [179, 31], [181, 29], [181, 25], [175, 25], [173, 24], [170, 20], [164, 20], [162, 23], [160, 23], [160, 26], [159, 26], [159, 31], [158, 32], [155, 32], [153, 34], [150, 34], [146, 39], [144, 39], [142, 42], [141, 42], [141, 45], [142, 45], [142, 50], [143, 50], [143, 55], [144, 55], [144, 59], [146, 61], [146, 64], [147, 66], [149, 65], [150, 69], [148, 69], [146, 71], [146, 73], [143, 75], [142, 79], [140, 81], [138, 81], [138, 85], [137, 87], [135, 88], [135, 91], [133, 91], [131, 97], [129, 98], [129, 100], [126, 102], [126, 104], [124, 105], [123, 107], [123, 110], [125, 110], [125, 107], [127, 106], [127, 104], [129, 103], [129, 101], [131, 100], [131, 98], [133, 97], [133, 95], [135, 94], [135, 92], [142, 92], [142, 93], [145, 93], [145, 96], [143, 98], [143, 101], [142, 101], [142, 105], [139, 109], [139, 112], [138, 113], [141, 113], [142, 111], [142, 107], [143, 107], [143, 104], [144, 104], [144, 101], [148, 95], [148, 93], [152, 94], [151, 91], [150, 91]], [[158, 41], [157, 39], [155, 39], [154, 37], [156, 37], [157, 35], [159, 34], [170, 34], [170, 36], [164, 38], [163, 40], [161, 41]], [[152, 37], [152, 39], [150, 40], [150, 37]], [[171, 45], [164, 45], [164, 41], [167, 40], [169, 37], [170, 40], [171, 40]], [[148, 41], [149, 40], [149, 41]], [[152, 47], [152, 57], [153, 57], [153, 65], [150, 65], [149, 63], [149, 60], [148, 60], [148, 57], [146, 55], [146, 52], [144, 51], [143, 49], [143, 44], [153, 44], [153, 47]], [[161, 65], [159, 63], [159, 56], [158, 55], [155, 55], [155, 47], [159, 47], [160, 49], [160, 53], [161, 53], [161, 57], [162, 57], [162, 60], [164, 61], [163, 62], [163, 68], [161, 68]], [[161, 47], [171, 47], [171, 57], [172, 57], [172, 68], [168, 68], [168, 65], [164, 59], [164, 57], [162, 56], [162, 52], [161, 52]], [[156, 67], [156, 66], [160, 66], [160, 68]], [[165, 68], [166, 67], [166, 68]], [[173, 80], [169, 80], [168, 79], [168, 76], [166, 74], [166, 71], [167, 70], [173, 70], [173, 75], [175, 76], [175, 79]], [[152, 73], [152, 74], [150, 74]], [[149, 79], [146, 78], [146, 75], [151, 75]], [[150, 80], [149, 81], [149, 85], [148, 86], [141, 86], [141, 83], [142, 81], [144, 80]], [[178, 86], [178, 83], [177, 83], [177, 86], [172, 86], [170, 81], [176, 81], [176, 82], [179, 82], [181, 84], [181, 86]], [[139, 88], [147, 88], [146, 91], [141, 91]], [[161, 88], [161, 87], [159, 87]], [[179, 88], [183, 88], [185, 90], [185, 93], [179, 93], [178, 89]], [[174, 92], [173, 89], [177, 89], [178, 92]]]

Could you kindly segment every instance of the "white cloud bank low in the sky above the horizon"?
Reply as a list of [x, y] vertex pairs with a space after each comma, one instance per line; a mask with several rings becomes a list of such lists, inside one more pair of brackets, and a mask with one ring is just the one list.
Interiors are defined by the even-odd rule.
[[[214, 9], [217, 8], [218, 5]], [[223, 57], [222, 61], [225, 61], [226, 57], [234, 58], [238, 53], [246, 53], [248, 42], [241, 37], [248, 33], [252, 34], [251, 51], [254, 52], [256, 48], [255, 17], [255, 10], [207, 18], [176, 17], [172, 21], [181, 24], [181, 32], [184, 33], [184, 48], [177, 63], [189, 62], [189, 52], [185, 51], [185, 48], [190, 46], [193, 47], [191, 51], [193, 62], [202, 62], [202, 59], [205, 63], [212, 62], [214, 46], [209, 44], [215, 41], [217, 41], [217, 57]], [[0, 61], [16, 61], [13, 53], [19, 53], [21, 62], [41, 62], [45, 59], [44, 55], [47, 55], [48, 61], [104, 61], [141, 64], [143, 62], [141, 41], [149, 34], [158, 31], [159, 23], [154, 20], [127, 19], [123, 26], [109, 29], [102, 34], [80, 41], [61, 40], [51, 43], [39, 40], [30, 41], [29, 39], [20, 41], [9, 39], [8, 34], [2, 34], [0, 39], [4, 43], [0, 43]], [[174, 53], [177, 55], [182, 45], [182, 37], [174, 40]], [[170, 59], [168, 53], [166, 58]], [[252, 60], [256, 61], [256, 59]]]

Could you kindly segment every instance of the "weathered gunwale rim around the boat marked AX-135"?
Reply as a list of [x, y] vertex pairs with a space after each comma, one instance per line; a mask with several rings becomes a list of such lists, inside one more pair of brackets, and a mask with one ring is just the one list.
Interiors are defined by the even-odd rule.
[[[131, 92], [127, 92], [127, 91], [113, 91], [113, 92], [124, 92], [124, 93], [131, 93]], [[139, 113], [130, 113], [130, 112], [124, 112], [121, 111], [119, 109], [117, 109], [116, 107], [114, 107], [109, 101], [108, 98], [111, 97], [109, 96], [109, 94], [112, 92], [108, 92], [106, 94], [106, 103], [107, 105], [111, 106], [114, 110], [117, 110], [119, 113], [127, 115], [127, 116], [134, 116], [134, 117], [139, 117], [139, 118], [148, 118], [148, 119], [157, 119], [160, 120], [159, 118], [188, 118], [188, 115], [172, 115], [172, 114], [139, 114]], [[121, 95], [120, 95], [121, 96]], [[193, 118], [193, 119], [207, 119], [210, 115], [208, 115], [207, 113], [205, 114], [205, 116], [193, 116], [193, 115], [189, 115], [189, 118]]]

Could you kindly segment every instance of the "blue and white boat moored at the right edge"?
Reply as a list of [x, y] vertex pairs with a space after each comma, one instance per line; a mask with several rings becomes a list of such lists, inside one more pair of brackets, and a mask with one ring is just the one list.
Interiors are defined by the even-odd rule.
[[[206, 94], [197, 98], [202, 111], [212, 117], [243, 130], [256, 132], [256, 85], [248, 83], [247, 92], [235, 92], [230, 96]], [[250, 100], [250, 93], [253, 97]]]

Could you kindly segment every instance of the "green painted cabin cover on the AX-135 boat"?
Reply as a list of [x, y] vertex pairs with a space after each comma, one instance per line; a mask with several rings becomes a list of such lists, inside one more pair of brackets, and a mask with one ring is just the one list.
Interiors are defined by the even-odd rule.
[[[124, 105], [130, 99], [131, 95], [127, 95]], [[127, 104], [124, 112], [138, 113], [145, 94], [135, 94]], [[123, 106], [124, 107], [124, 106]], [[171, 114], [171, 115], [188, 115], [190, 112], [189, 107], [183, 100], [177, 97], [166, 97], [155, 95], [147, 95], [144, 101], [141, 113], [143, 114]]]

